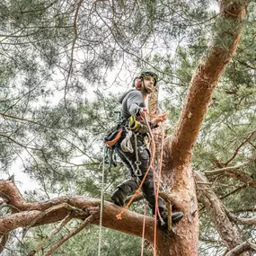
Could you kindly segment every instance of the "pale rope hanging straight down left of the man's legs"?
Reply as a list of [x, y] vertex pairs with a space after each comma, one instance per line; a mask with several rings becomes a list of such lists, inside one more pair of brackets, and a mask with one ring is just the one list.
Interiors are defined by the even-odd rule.
[[101, 211], [100, 211], [100, 229], [99, 229], [99, 243], [98, 243], [98, 256], [102, 253], [102, 216], [104, 206], [104, 179], [105, 179], [105, 154], [106, 146], [103, 147], [103, 162], [102, 162], [102, 192], [101, 192]]

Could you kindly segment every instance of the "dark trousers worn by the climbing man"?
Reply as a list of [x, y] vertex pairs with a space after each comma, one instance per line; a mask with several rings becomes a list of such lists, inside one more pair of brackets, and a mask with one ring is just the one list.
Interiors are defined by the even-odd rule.
[[[151, 155], [146, 146], [144, 146], [144, 136], [141, 134], [137, 134], [137, 149], [135, 147], [135, 136], [133, 135], [130, 138], [131, 145], [133, 147], [133, 153], [124, 152], [121, 147], [121, 139], [117, 145], [117, 153], [121, 159], [121, 161], [126, 165], [128, 168], [131, 178], [127, 181], [123, 181], [119, 184], [119, 188], [123, 190], [125, 196], [133, 193], [137, 190], [140, 182], [143, 180], [146, 171], [150, 165]], [[136, 157], [136, 150], [137, 150], [137, 157]], [[138, 159], [137, 159], [138, 158]], [[142, 175], [136, 175], [137, 164], [136, 161], [139, 161], [139, 169], [142, 172]], [[146, 180], [142, 185], [142, 193], [148, 202], [149, 207], [152, 208], [154, 214], [154, 207], [155, 207], [155, 197], [154, 197], [154, 181], [153, 181], [153, 169], [150, 168], [150, 171], [146, 175]], [[165, 203], [163, 199], [158, 199], [158, 207], [160, 210], [165, 209]]]

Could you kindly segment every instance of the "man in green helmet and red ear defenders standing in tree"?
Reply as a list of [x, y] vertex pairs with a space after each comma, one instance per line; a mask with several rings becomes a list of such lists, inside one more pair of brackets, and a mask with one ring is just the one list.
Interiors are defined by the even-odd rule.
[[[154, 181], [153, 169], [150, 167], [150, 152], [146, 147], [148, 128], [146, 127], [146, 97], [153, 92], [157, 83], [157, 75], [151, 71], [142, 71], [134, 80], [135, 89], [128, 91], [120, 98], [122, 104], [121, 115], [124, 123], [128, 124], [131, 131], [124, 130], [122, 137], [117, 144], [117, 152], [122, 162], [128, 167], [131, 178], [119, 184], [117, 190], [111, 196], [112, 201], [124, 207], [128, 194], [137, 190], [138, 185], [143, 180], [148, 168], [146, 180], [142, 186], [142, 192], [153, 214], [155, 213]], [[156, 128], [158, 123], [166, 119], [164, 116], [156, 116], [149, 124], [151, 128]], [[126, 145], [130, 142], [130, 146]], [[158, 199], [159, 215], [158, 224], [165, 228], [167, 226], [167, 211], [163, 199]], [[176, 212], [172, 214], [172, 223], [179, 222], [183, 214]]]

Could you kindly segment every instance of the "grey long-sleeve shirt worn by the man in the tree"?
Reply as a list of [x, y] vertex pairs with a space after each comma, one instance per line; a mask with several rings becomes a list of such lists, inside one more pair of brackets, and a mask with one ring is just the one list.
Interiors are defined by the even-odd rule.
[[136, 89], [124, 93], [119, 102], [122, 104], [122, 117], [137, 116], [141, 108], [146, 108], [142, 94]]

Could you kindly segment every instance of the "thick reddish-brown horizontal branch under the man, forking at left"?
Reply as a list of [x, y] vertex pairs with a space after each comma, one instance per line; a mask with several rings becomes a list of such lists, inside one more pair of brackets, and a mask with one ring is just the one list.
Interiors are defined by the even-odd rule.
[[[0, 198], [6, 199], [9, 205], [19, 211], [9, 216], [0, 217], [0, 234], [7, 234], [18, 227], [31, 226], [31, 223], [33, 223], [32, 226], [55, 223], [64, 219], [68, 214], [82, 219], [92, 214], [99, 216], [100, 211], [99, 199], [84, 197], [63, 197], [42, 202], [26, 202], [11, 181], [0, 181]], [[66, 205], [71, 207], [65, 207]], [[75, 210], [76, 208], [83, 210], [83, 213]], [[118, 220], [116, 216], [120, 210], [121, 207], [106, 201], [104, 203], [102, 225], [123, 233], [141, 236], [144, 216], [127, 210], [122, 215], [122, 219]], [[47, 212], [44, 213], [44, 211]], [[93, 224], [99, 225], [99, 217], [93, 221]], [[158, 234], [162, 237], [161, 231], [158, 231]], [[153, 217], [146, 216], [145, 238], [151, 242], [154, 240]]]

